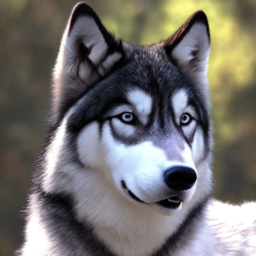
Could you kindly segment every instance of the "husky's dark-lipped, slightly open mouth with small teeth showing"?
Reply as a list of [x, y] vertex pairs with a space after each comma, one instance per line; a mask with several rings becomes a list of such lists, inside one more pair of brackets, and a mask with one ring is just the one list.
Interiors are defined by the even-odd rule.
[[[136, 200], [137, 202], [140, 202], [140, 203], [145, 203], [144, 201], [142, 201], [141, 199], [139, 199], [137, 196], [135, 196], [131, 190], [129, 190], [124, 182], [124, 180], [121, 181], [121, 185], [122, 185], [122, 188], [125, 189], [125, 190], [128, 190], [128, 194], [129, 196]], [[167, 199], [164, 199], [164, 200], [161, 200], [159, 202], [156, 202], [156, 204], [159, 204], [161, 205], [162, 207], [165, 207], [165, 208], [168, 208], [168, 209], [175, 209], [177, 207], [180, 206], [181, 204], [181, 198], [178, 197], [178, 196], [172, 196], [170, 198], [167, 198]]]

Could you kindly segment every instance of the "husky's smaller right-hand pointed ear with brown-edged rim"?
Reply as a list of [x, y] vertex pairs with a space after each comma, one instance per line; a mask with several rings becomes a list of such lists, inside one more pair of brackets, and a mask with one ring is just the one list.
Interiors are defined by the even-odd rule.
[[165, 43], [166, 53], [208, 98], [207, 66], [210, 53], [210, 32], [203, 11], [192, 14]]

